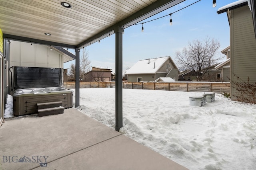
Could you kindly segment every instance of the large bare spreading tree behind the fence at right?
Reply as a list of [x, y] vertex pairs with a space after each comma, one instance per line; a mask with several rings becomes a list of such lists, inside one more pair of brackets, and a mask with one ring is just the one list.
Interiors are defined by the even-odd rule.
[[[216, 64], [222, 57], [216, 57], [220, 42], [215, 39], [206, 38], [189, 42], [182, 52], [176, 51], [178, 65], [182, 70], [193, 70], [197, 75], [197, 81], [201, 81], [208, 68]], [[200, 73], [201, 72], [201, 73]]]

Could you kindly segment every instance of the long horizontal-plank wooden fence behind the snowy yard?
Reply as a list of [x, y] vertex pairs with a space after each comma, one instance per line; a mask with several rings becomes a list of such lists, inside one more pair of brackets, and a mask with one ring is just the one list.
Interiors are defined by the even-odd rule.
[[[75, 88], [75, 82], [64, 82], [64, 88]], [[115, 82], [80, 82], [80, 88], [115, 88]], [[230, 93], [229, 82], [123, 82], [123, 88]]]

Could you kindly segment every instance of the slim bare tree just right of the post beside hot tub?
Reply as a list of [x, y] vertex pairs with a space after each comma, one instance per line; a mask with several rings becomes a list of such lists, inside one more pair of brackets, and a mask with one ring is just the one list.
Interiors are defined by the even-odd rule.
[[84, 74], [90, 70], [89, 53], [83, 48], [82, 57], [80, 58], [80, 79], [84, 78]]

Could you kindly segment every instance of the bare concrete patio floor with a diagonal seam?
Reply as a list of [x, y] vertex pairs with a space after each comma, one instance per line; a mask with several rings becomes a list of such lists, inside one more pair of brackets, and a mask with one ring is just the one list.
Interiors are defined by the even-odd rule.
[[6, 119], [0, 127], [2, 169], [186, 170], [74, 108]]

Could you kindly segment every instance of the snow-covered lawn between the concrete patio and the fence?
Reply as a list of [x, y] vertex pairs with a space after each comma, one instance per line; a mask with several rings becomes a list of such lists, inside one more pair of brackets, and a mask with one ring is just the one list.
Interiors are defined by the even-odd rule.
[[[120, 132], [190, 170], [255, 169], [256, 105], [215, 94], [211, 104], [190, 106], [195, 95], [123, 89]], [[115, 89], [80, 89], [77, 109], [114, 129]]]

